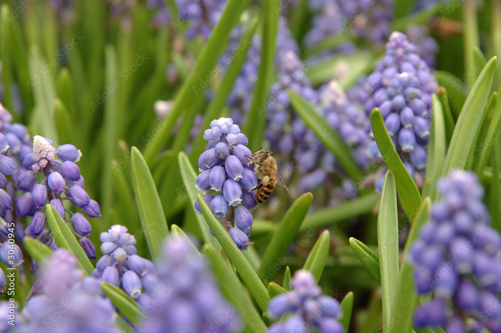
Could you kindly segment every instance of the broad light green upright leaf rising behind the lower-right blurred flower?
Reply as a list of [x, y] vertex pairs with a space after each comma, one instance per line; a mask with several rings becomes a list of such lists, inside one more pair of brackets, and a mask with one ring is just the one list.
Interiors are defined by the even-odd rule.
[[495, 64], [495, 57], [488, 61], [464, 102], [445, 157], [442, 171], [444, 176], [451, 169], [463, 168], [467, 163], [470, 148], [475, 144], [487, 98], [490, 95]]

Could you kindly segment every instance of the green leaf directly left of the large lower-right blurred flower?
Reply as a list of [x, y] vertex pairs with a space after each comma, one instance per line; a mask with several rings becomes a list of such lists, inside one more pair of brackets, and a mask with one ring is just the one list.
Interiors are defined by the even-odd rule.
[[414, 308], [418, 304], [418, 296], [414, 279], [412, 276], [413, 266], [408, 262], [409, 250], [414, 240], [419, 235], [421, 225], [428, 219], [431, 200], [425, 197], [419, 207], [414, 221], [412, 221], [409, 235], [405, 243], [402, 255], [400, 276], [398, 277], [397, 293], [394, 298], [395, 311], [391, 314], [390, 322], [398, 322], [398, 325], [390, 325], [389, 333], [410, 333], [412, 332], [412, 319]]

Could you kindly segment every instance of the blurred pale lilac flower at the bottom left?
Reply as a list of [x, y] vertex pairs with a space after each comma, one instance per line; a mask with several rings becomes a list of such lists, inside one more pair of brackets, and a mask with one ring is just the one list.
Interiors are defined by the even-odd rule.
[[16, 327], [18, 322], [26, 327], [16, 331], [38, 332], [50, 327], [52, 333], [119, 333], [113, 325], [115, 307], [108, 298], [101, 297], [99, 281], [86, 277], [67, 250], [54, 252], [42, 267], [41, 281], [35, 284], [43, 286], [41, 290], [34, 292], [19, 313], [24, 321], [16, 320]]

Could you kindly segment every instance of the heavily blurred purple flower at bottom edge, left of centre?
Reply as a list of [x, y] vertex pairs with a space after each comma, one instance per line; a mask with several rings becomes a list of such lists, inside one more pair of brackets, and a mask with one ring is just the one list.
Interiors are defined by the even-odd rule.
[[173, 332], [241, 331], [234, 306], [223, 298], [205, 260], [187, 239], [167, 238], [156, 267], [159, 279], [138, 298], [148, 311], [139, 333], [161, 332], [165, 327]]

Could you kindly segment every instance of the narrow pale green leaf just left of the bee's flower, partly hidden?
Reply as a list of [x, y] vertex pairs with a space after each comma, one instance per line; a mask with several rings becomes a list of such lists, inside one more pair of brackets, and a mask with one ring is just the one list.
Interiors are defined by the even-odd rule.
[[[188, 198], [190, 202], [190, 206], [194, 208], [196, 202], [196, 195], [203, 194], [199, 190], [195, 188], [196, 181], [196, 173], [191, 166], [190, 161], [188, 160], [188, 156], [184, 152], [179, 152], [177, 157], [179, 163], [179, 169], [181, 170], [181, 176], [183, 177], [184, 187], [186, 188], [186, 192], [188, 192]], [[209, 233], [209, 229], [207, 228], [207, 223], [205, 223], [205, 219], [203, 216], [196, 214], [196, 220], [198, 222], [198, 227], [200, 228], [200, 232], [203, 237], [203, 241], [207, 244], [210, 244], [214, 248], [218, 248], [219, 244]]]

